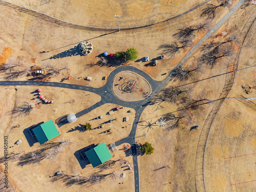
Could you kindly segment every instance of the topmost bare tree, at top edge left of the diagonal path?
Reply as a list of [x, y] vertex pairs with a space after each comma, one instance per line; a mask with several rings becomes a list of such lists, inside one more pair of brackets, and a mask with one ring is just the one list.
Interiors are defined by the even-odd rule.
[[203, 9], [201, 17], [207, 17], [207, 19], [214, 19], [216, 16], [216, 11], [218, 7], [228, 7], [231, 4], [231, 1], [222, 0], [219, 5], [207, 4], [207, 7]]

